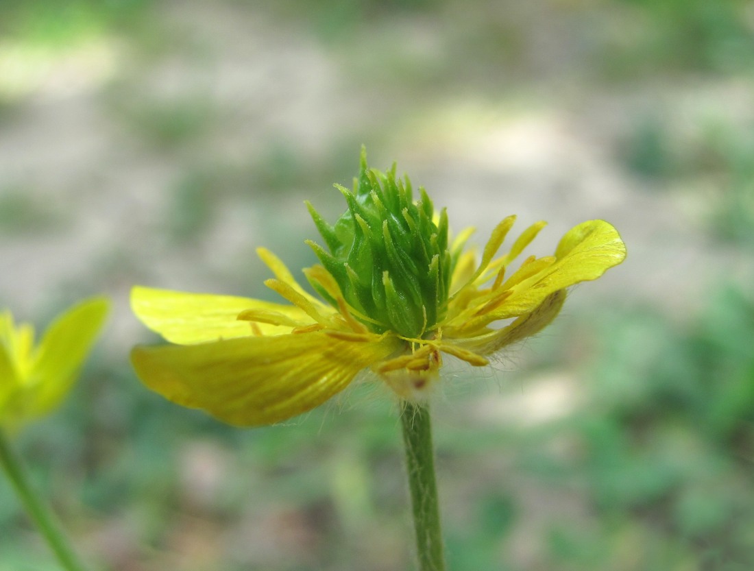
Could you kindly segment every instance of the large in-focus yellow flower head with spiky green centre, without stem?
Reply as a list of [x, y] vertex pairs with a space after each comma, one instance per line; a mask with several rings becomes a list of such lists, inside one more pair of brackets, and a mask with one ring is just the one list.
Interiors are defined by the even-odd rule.
[[362, 152], [354, 190], [339, 189], [348, 210], [333, 225], [308, 204], [326, 245], [309, 242], [321, 265], [304, 270], [319, 297], [263, 248], [274, 275], [265, 285], [288, 303], [133, 288], [133, 312], [174, 343], [133, 349], [149, 388], [235, 425], [311, 410], [364, 369], [401, 398], [421, 398], [443, 354], [489, 364], [489, 355], [547, 326], [567, 287], [599, 278], [626, 255], [610, 224], [590, 220], [566, 232], [553, 256], [529, 256], [510, 272], [544, 223], [498, 255], [515, 221], [508, 216], [477, 260], [465, 249], [473, 230], [449, 245], [445, 210], [435, 213], [424, 189], [414, 201], [394, 167], [370, 170]]

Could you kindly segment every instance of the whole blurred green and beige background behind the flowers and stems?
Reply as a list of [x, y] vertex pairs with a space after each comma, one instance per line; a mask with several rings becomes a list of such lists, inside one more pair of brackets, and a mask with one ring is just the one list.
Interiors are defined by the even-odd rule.
[[[17, 445], [92, 569], [409, 569], [375, 383], [237, 430], [146, 391], [132, 284], [270, 296], [360, 144], [483, 243], [604, 218], [629, 256], [434, 399], [450, 569], [754, 568], [748, 0], [2, 0], [0, 305], [115, 312]], [[0, 480], [0, 571], [57, 569]]]

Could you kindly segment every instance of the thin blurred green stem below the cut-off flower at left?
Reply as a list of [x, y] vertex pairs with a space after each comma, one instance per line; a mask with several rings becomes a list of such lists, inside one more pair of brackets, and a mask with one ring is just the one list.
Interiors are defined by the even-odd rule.
[[86, 568], [79, 562], [54, 515], [29, 485], [20, 458], [11, 450], [8, 439], [2, 431], [0, 431], [0, 465], [11, 480], [29, 517], [36, 523], [63, 568], [66, 571], [85, 571]]

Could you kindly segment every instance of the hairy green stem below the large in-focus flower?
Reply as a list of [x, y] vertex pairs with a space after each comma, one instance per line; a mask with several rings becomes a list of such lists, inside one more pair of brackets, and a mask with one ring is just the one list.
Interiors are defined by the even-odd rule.
[[400, 420], [403, 424], [403, 444], [406, 446], [406, 471], [409, 476], [419, 571], [444, 571], [429, 409], [423, 404], [402, 401]]

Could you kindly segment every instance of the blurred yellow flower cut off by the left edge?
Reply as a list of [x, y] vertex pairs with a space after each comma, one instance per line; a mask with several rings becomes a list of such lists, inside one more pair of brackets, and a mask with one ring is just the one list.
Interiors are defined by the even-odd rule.
[[15, 429], [63, 401], [108, 308], [101, 297], [78, 303], [53, 321], [37, 346], [32, 325], [14, 325], [11, 312], [0, 313], [0, 428]]

